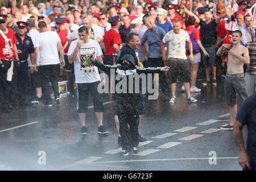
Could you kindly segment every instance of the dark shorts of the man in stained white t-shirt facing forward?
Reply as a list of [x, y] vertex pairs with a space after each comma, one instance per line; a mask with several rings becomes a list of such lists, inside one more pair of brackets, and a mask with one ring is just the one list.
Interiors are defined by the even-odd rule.
[[190, 82], [190, 70], [186, 59], [170, 57], [168, 59], [170, 71], [167, 72], [167, 82], [170, 84], [177, 82], [180, 73], [181, 82]]

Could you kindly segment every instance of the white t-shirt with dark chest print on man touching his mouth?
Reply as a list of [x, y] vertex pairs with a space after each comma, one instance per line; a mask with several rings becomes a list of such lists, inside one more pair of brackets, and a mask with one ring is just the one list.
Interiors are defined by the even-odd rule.
[[[74, 40], [68, 49], [68, 56], [72, 54], [74, 49], [76, 48], [77, 42], [79, 42], [79, 39]], [[82, 44], [80, 47], [80, 51], [77, 53], [76, 60], [74, 61], [74, 67], [75, 67], [75, 80], [77, 84], [84, 84], [84, 83], [92, 83], [96, 81], [101, 81], [100, 74], [98, 73], [98, 68], [95, 66], [92, 67], [81, 67], [81, 60], [80, 55], [90, 55], [95, 51], [95, 56], [101, 56], [102, 51], [100, 44], [96, 40], [89, 39], [88, 43]], [[94, 69], [94, 71], [93, 71]], [[86, 72], [85, 72], [86, 70]], [[91, 72], [89, 72], [89, 70]]]

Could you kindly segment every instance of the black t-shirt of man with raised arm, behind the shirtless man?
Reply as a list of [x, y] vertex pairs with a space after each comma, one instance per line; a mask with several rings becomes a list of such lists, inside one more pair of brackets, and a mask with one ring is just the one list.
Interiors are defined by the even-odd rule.
[[212, 20], [210, 23], [200, 20], [200, 31], [202, 35], [203, 46], [214, 45], [217, 40], [217, 23]]

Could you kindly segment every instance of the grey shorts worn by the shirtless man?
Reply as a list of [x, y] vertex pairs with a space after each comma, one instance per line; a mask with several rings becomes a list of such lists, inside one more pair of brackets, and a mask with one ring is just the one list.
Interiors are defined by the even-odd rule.
[[237, 104], [237, 95], [241, 98], [241, 101], [246, 99], [247, 93], [245, 89], [245, 76], [243, 76], [243, 73], [234, 75], [226, 74], [225, 94], [228, 106]]

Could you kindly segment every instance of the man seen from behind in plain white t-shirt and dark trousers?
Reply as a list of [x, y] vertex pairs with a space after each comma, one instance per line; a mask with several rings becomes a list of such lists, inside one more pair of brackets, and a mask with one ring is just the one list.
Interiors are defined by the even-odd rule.
[[[38, 23], [40, 34], [35, 40], [35, 60], [39, 56], [39, 74], [42, 81], [43, 105], [52, 106], [49, 82], [52, 84], [56, 104], [60, 104], [60, 93], [57, 78], [60, 72], [60, 65], [64, 67], [64, 50], [59, 35], [56, 32], [48, 31], [46, 22]], [[59, 57], [60, 53], [60, 57]]]

